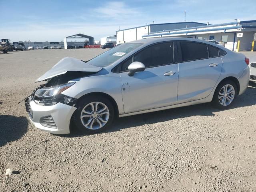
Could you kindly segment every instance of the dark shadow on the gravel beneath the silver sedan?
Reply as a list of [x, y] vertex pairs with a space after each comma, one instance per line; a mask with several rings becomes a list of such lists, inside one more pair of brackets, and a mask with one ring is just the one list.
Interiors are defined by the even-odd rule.
[[[253, 82], [252, 82], [253, 83]], [[240, 108], [245, 106], [256, 105], [256, 84], [249, 84], [250, 87], [247, 88], [246, 92], [241, 96], [238, 96], [235, 100], [234, 104], [230, 107], [230, 109]], [[134, 116], [127, 116], [122, 118], [117, 118], [112, 126], [108, 128], [104, 132], [116, 132], [125, 128], [132, 128], [136, 126], [142, 126], [144, 124], [154, 124], [157, 122], [165, 122], [178, 118], [187, 118], [192, 116], [215, 116], [215, 112], [219, 112], [222, 110], [214, 108], [210, 103], [197, 104], [192, 106], [180, 107], [180, 108], [172, 108], [168, 110], [161, 110], [157, 112], [150, 112], [145, 114], [138, 114]], [[88, 134], [84, 134], [79, 132], [74, 122], [70, 124], [70, 134], [67, 135], [59, 135], [63, 137], [77, 137], [77, 136], [85, 136]]]

